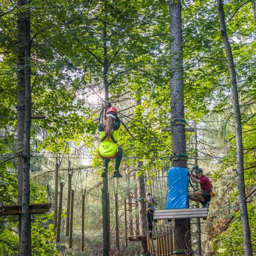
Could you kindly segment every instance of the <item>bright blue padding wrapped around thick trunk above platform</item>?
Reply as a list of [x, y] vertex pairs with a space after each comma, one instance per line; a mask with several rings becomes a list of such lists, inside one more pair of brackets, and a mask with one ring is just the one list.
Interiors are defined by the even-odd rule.
[[169, 191], [165, 209], [188, 208], [188, 171], [185, 167], [172, 167], [168, 171]]

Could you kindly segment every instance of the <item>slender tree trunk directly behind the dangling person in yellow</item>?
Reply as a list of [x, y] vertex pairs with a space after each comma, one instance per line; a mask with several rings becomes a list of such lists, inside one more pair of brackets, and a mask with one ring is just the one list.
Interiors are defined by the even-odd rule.
[[[104, 62], [103, 62], [103, 80], [104, 80], [104, 89], [105, 89], [105, 112], [107, 109], [107, 104], [109, 102], [109, 85], [107, 83], [107, 32], [106, 32], [106, 21], [107, 21], [107, 4], [106, 0], [104, 1], [104, 12], [105, 12], [105, 21], [103, 23], [103, 50], [104, 50]], [[110, 245], [110, 231], [109, 231], [109, 197], [108, 193], [108, 183], [107, 178], [103, 178], [102, 186], [102, 226], [103, 226], [103, 255], [109, 255]]]

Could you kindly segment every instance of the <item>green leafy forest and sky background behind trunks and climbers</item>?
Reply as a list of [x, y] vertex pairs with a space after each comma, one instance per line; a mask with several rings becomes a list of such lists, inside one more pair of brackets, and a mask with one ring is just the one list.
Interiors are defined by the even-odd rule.
[[[217, 3], [184, 0], [182, 6], [185, 117], [188, 126], [196, 124], [198, 136], [196, 152], [194, 134], [186, 133], [188, 166], [193, 165], [198, 154], [199, 166], [211, 178], [217, 194], [208, 219], [201, 224], [203, 252], [242, 254], [230, 77]], [[57, 255], [57, 251], [79, 255], [80, 207], [86, 191], [85, 245], [93, 255], [102, 250], [102, 160], [97, 154], [97, 125], [104, 104], [104, 79], [110, 85], [110, 101], [129, 129], [127, 132], [122, 126], [119, 142], [124, 151], [121, 170], [126, 179], [117, 183], [111, 174], [109, 178], [111, 230], [114, 194], [119, 195], [121, 223], [123, 199], [130, 196], [135, 203], [136, 176], [140, 172], [133, 170], [138, 160], [143, 161], [141, 172], [147, 191], [158, 200], [158, 208], [166, 203], [171, 134], [161, 129], [171, 121], [169, 3], [33, 0], [30, 9], [32, 114], [45, 116], [32, 120], [31, 203], [53, 202], [56, 163], [60, 181], [65, 184], [64, 205], [69, 173], [75, 190], [73, 248], [68, 249], [65, 236], [64, 207], [59, 244], [52, 211], [33, 215], [32, 250], [35, 255]], [[18, 200], [18, 12], [15, 1], [3, 0], [0, 4], [0, 201], [4, 204], [16, 204]], [[225, 1], [225, 15], [238, 77], [247, 208], [255, 248], [254, 1]], [[142, 104], [136, 106], [138, 99]], [[134, 204], [130, 232], [131, 228], [137, 232], [137, 219]], [[0, 252], [17, 253], [17, 217], [2, 217], [0, 223]], [[136, 251], [137, 244], [126, 248], [127, 255]]]

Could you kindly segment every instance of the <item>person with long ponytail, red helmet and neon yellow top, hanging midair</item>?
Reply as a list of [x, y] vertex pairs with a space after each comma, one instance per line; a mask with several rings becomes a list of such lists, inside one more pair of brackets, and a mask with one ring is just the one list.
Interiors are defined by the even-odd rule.
[[103, 124], [99, 124], [99, 156], [103, 158], [102, 177], [107, 177], [107, 166], [110, 159], [116, 159], [116, 166], [113, 177], [122, 178], [119, 173], [119, 166], [122, 160], [123, 149], [117, 145], [119, 140], [120, 119], [117, 116], [117, 110], [111, 106], [106, 111], [106, 120]]

